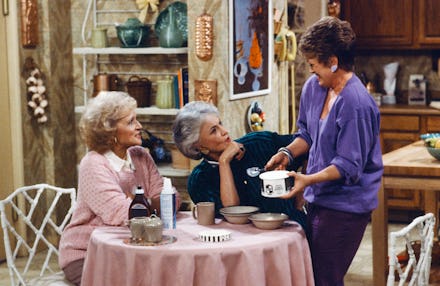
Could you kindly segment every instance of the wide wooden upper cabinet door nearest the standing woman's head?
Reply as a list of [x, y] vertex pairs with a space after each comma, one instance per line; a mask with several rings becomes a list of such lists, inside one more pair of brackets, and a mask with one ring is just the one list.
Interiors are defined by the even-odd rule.
[[413, 0], [398, 2], [343, 1], [342, 17], [351, 23], [356, 32], [359, 49], [401, 48], [412, 45]]

